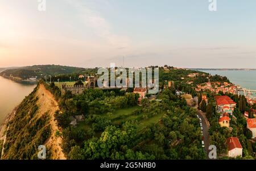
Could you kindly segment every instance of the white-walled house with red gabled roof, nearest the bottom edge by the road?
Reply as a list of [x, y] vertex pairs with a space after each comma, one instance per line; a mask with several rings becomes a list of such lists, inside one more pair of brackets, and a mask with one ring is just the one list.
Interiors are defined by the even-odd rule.
[[232, 157], [232, 158], [236, 158], [238, 156], [242, 157], [243, 148], [237, 137], [229, 137], [226, 140], [226, 143], [228, 144], [229, 157]]

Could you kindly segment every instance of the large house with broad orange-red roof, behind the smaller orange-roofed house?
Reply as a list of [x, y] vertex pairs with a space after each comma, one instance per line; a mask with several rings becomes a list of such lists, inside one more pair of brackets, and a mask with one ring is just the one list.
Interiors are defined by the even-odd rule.
[[216, 95], [214, 96], [215, 101], [217, 103], [217, 107], [219, 111], [222, 111], [224, 106], [229, 107], [232, 111], [236, 107], [237, 103], [234, 102], [230, 97], [227, 95]]

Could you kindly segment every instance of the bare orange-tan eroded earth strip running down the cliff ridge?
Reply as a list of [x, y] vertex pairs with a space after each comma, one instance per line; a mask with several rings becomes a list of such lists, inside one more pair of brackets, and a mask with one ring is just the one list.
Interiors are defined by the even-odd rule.
[[54, 120], [54, 114], [56, 110], [59, 110], [59, 105], [56, 102], [53, 95], [46, 90], [46, 88], [43, 85], [39, 85], [38, 91], [36, 91], [36, 95], [39, 98], [38, 99], [38, 106], [39, 106], [39, 115], [43, 115], [46, 112], [48, 112], [50, 119], [50, 124], [52, 127], [52, 133], [51, 137], [46, 142], [46, 147], [52, 148], [52, 158], [53, 159], [59, 159], [59, 160], [65, 160], [66, 157], [64, 156], [64, 153], [61, 148], [62, 139], [61, 137], [56, 137], [55, 133], [56, 131], [60, 131], [60, 129], [57, 127], [57, 121]]

